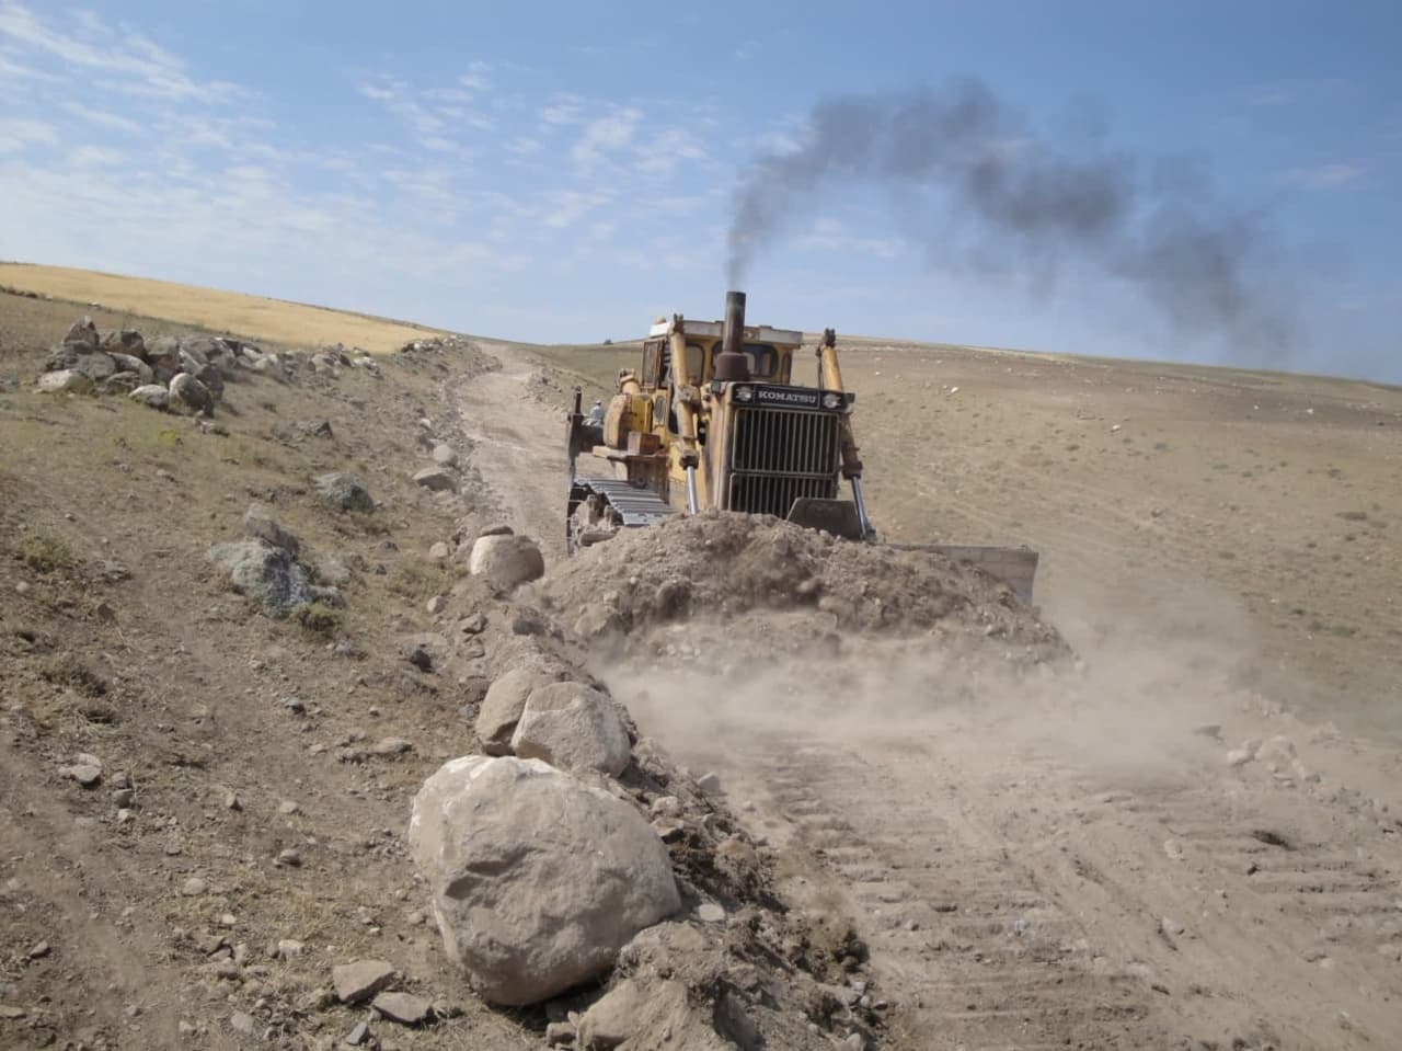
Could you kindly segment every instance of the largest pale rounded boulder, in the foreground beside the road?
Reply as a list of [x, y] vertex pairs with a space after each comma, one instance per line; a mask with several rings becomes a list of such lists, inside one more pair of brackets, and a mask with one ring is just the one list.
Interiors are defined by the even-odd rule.
[[409, 850], [447, 956], [492, 1003], [537, 1003], [599, 977], [681, 904], [642, 814], [537, 759], [442, 766], [414, 798]]

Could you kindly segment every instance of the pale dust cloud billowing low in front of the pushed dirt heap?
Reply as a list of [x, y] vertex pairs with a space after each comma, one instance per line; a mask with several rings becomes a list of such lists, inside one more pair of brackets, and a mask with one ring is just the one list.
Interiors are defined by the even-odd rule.
[[[688, 634], [725, 664], [634, 657], [597, 672], [644, 734], [698, 768], [753, 769], [775, 748], [819, 748], [876, 763], [1036, 756], [1105, 787], [1192, 782], [1204, 727], [1248, 697], [1244, 616], [1207, 595], [1137, 616], [1099, 595], [1061, 605], [1077, 655], [1032, 667], [997, 640], [934, 636], [774, 657], [728, 647], [730, 626], [709, 623]], [[782, 617], [771, 624], [784, 631]], [[746, 636], [758, 637], [753, 624]]]

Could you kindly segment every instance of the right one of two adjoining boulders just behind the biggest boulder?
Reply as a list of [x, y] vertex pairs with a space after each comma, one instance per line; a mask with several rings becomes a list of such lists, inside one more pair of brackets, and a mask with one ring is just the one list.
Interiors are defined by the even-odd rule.
[[593, 770], [614, 777], [631, 756], [628, 731], [613, 700], [579, 682], [531, 690], [512, 734], [512, 751], [571, 773]]

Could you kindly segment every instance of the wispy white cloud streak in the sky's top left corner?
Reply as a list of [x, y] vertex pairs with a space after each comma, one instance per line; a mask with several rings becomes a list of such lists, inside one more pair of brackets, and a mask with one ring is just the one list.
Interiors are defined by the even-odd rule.
[[8, 39], [21, 53], [111, 74], [97, 81], [107, 90], [203, 102], [227, 102], [243, 94], [243, 88], [227, 81], [193, 80], [184, 62], [140, 34], [112, 29], [93, 14], [80, 25], [91, 39], [60, 32], [17, 0], [0, 0], [0, 38]]

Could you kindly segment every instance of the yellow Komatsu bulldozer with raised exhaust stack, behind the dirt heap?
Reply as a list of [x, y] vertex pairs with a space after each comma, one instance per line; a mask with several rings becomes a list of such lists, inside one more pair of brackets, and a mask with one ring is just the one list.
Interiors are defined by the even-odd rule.
[[[880, 543], [862, 494], [852, 436], [857, 396], [843, 384], [837, 334], [815, 348], [815, 386], [795, 382], [803, 333], [747, 326], [746, 296], [725, 319], [659, 319], [638, 369], [621, 369], [603, 420], [573, 393], [566, 422], [565, 549], [620, 529], [705, 509], [774, 515], [857, 543]], [[590, 470], [580, 471], [587, 456]], [[843, 497], [843, 481], [851, 498]], [[890, 544], [970, 564], [1032, 601], [1037, 553], [1026, 547]]]

